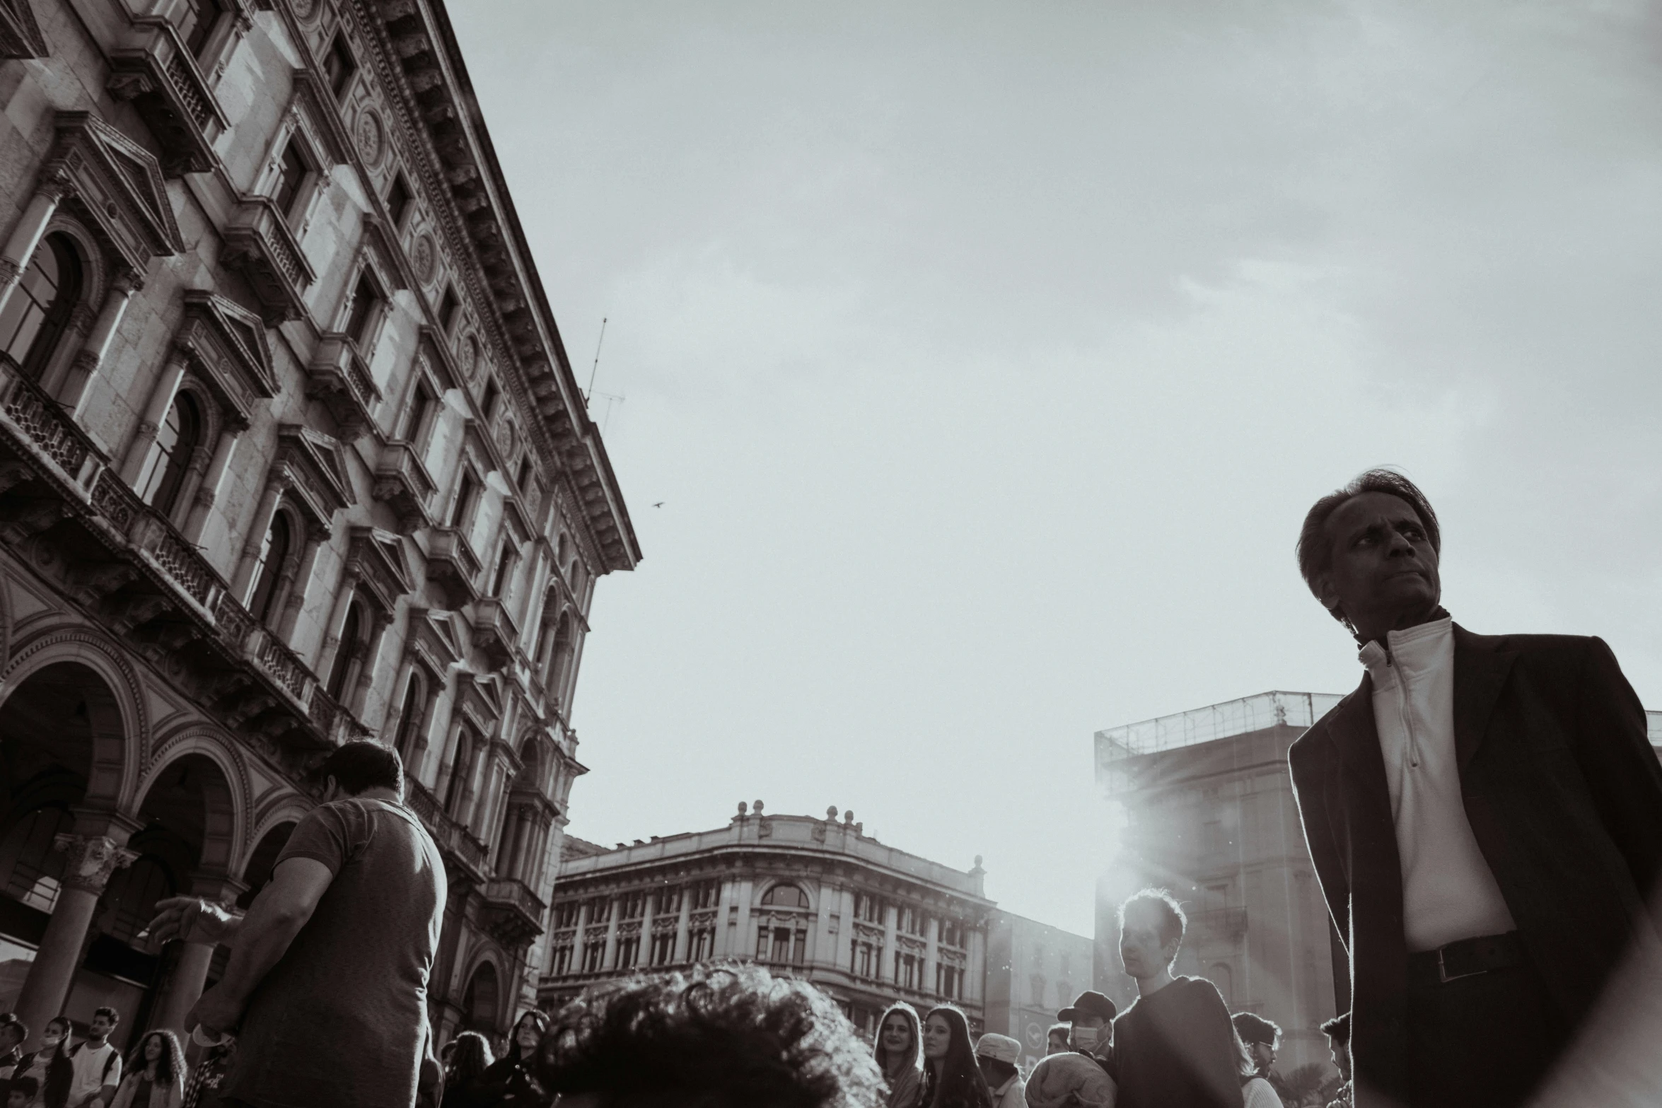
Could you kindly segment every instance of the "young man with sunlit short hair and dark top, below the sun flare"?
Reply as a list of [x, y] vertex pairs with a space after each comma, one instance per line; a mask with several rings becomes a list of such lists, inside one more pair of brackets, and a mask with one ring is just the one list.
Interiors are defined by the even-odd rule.
[[1119, 1108], [1240, 1108], [1230, 1010], [1203, 977], [1173, 977], [1188, 920], [1165, 889], [1120, 905], [1120, 962], [1137, 1000], [1114, 1020]]

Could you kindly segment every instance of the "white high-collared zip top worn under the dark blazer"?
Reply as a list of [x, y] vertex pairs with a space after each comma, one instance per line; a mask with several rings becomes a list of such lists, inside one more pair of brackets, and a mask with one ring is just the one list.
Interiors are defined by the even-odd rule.
[[1461, 799], [1454, 754], [1454, 625], [1444, 616], [1389, 631], [1361, 664], [1373, 678], [1396, 852], [1403, 860], [1403, 937], [1434, 950], [1456, 939], [1516, 929]]

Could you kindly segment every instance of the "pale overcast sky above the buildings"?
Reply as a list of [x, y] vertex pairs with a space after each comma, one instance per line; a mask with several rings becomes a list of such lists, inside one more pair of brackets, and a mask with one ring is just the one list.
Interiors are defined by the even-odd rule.
[[1662, 708], [1655, 5], [449, 7], [645, 552], [572, 834], [836, 804], [1090, 934], [1092, 733], [1351, 689], [1378, 463]]

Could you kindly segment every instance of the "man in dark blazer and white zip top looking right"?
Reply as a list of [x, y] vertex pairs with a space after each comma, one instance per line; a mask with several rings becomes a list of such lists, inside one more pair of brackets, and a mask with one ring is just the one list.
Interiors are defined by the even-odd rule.
[[1371, 470], [1310, 510], [1305, 581], [1361, 645], [1288, 754], [1350, 952], [1356, 1105], [1519, 1105], [1610, 973], [1657, 940], [1662, 766], [1610, 648], [1473, 635], [1436, 513]]

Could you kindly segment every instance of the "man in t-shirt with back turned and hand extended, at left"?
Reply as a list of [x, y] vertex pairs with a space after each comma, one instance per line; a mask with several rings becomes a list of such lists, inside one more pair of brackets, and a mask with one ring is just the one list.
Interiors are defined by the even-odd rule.
[[176, 897], [151, 930], [231, 945], [224, 977], [186, 1017], [238, 1033], [224, 1103], [409, 1108], [424, 1063], [437, 1066], [427, 977], [444, 862], [402, 804], [394, 751], [346, 743], [317, 772], [324, 802], [294, 827], [246, 917]]

